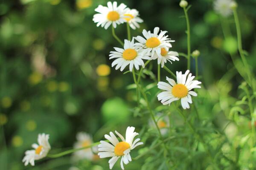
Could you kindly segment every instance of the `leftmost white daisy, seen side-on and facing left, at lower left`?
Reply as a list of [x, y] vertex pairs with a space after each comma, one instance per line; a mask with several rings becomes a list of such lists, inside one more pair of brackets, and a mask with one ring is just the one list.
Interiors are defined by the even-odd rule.
[[32, 166], [34, 166], [35, 160], [39, 160], [47, 156], [47, 153], [51, 149], [51, 146], [48, 140], [49, 140], [49, 135], [46, 135], [44, 133], [38, 134], [38, 144], [32, 144], [32, 147], [34, 149], [27, 150], [25, 152], [25, 156], [22, 160], [25, 166], [27, 166], [29, 163]]

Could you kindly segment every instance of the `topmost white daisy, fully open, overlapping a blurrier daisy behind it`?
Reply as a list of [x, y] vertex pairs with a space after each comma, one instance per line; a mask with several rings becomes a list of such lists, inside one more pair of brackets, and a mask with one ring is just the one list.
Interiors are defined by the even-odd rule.
[[97, 23], [98, 26], [102, 26], [107, 29], [111, 24], [114, 28], [116, 28], [116, 24], [121, 24], [126, 22], [124, 19], [124, 14], [128, 9], [126, 9], [126, 5], [121, 3], [117, 6], [116, 1], [108, 2], [108, 7], [99, 5], [95, 11], [99, 12], [99, 14], [93, 15], [94, 23]]

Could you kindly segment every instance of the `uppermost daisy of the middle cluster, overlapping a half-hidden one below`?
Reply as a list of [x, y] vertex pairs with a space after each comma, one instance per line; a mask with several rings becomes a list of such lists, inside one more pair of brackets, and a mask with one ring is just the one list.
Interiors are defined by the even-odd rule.
[[159, 27], [154, 28], [154, 33], [150, 31], [146, 31], [145, 29], [142, 31], [142, 34], [145, 38], [141, 36], [135, 37], [138, 41], [135, 45], [140, 48], [146, 55], [149, 55], [151, 52], [151, 57], [156, 53], [158, 56], [161, 54], [161, 48], [170, 48], [172, 45], [170, 42], [175, 42], [170, 38], [167, 38], [168, 35], [165, 35], [167, 31], [160, 31], [158, 35]]

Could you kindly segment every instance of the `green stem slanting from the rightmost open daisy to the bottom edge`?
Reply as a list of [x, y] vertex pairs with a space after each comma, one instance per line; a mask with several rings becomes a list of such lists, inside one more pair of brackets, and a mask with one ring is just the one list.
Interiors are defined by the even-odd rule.
[[[174, 104], [173, 104], [174, 105]], [[175, 105], [174, 105], [175, 106]], [[214, 165], [215, 169], [216, 170], [219, 170], [219, 167], [218, 167], [218, 164], [215, 162], [214, 158], [212, 157], [212, 154], [210, 153], [208, 147], [207, 147], [207, 144], [204, 142], [204, 140], [201, 138], [201, 135], [199, 133], [196, 132], [196, 130], [194, 129], [194, 127], [191, 125], [191, 123], [187, 120], [186, 116], [183, 114], [182, 111], [180, 111], [179, 108], [177, 108], [175, 106], [176, 110], [178, 111], [178, 113], [180, 114], [181, 117], [183, 117], [184, 119], [184, 122], [189, 126], [190, 130], [192, 131], [192, 133], [194, 133], [195, 137], [198, 139], [198, 141], [200, 141], [203, 146], [204, 146], [204, 149], [207, 151], [207, 154], [209, 155], [209, 157], [211, 158], [212, 160], [212, 164]]]

